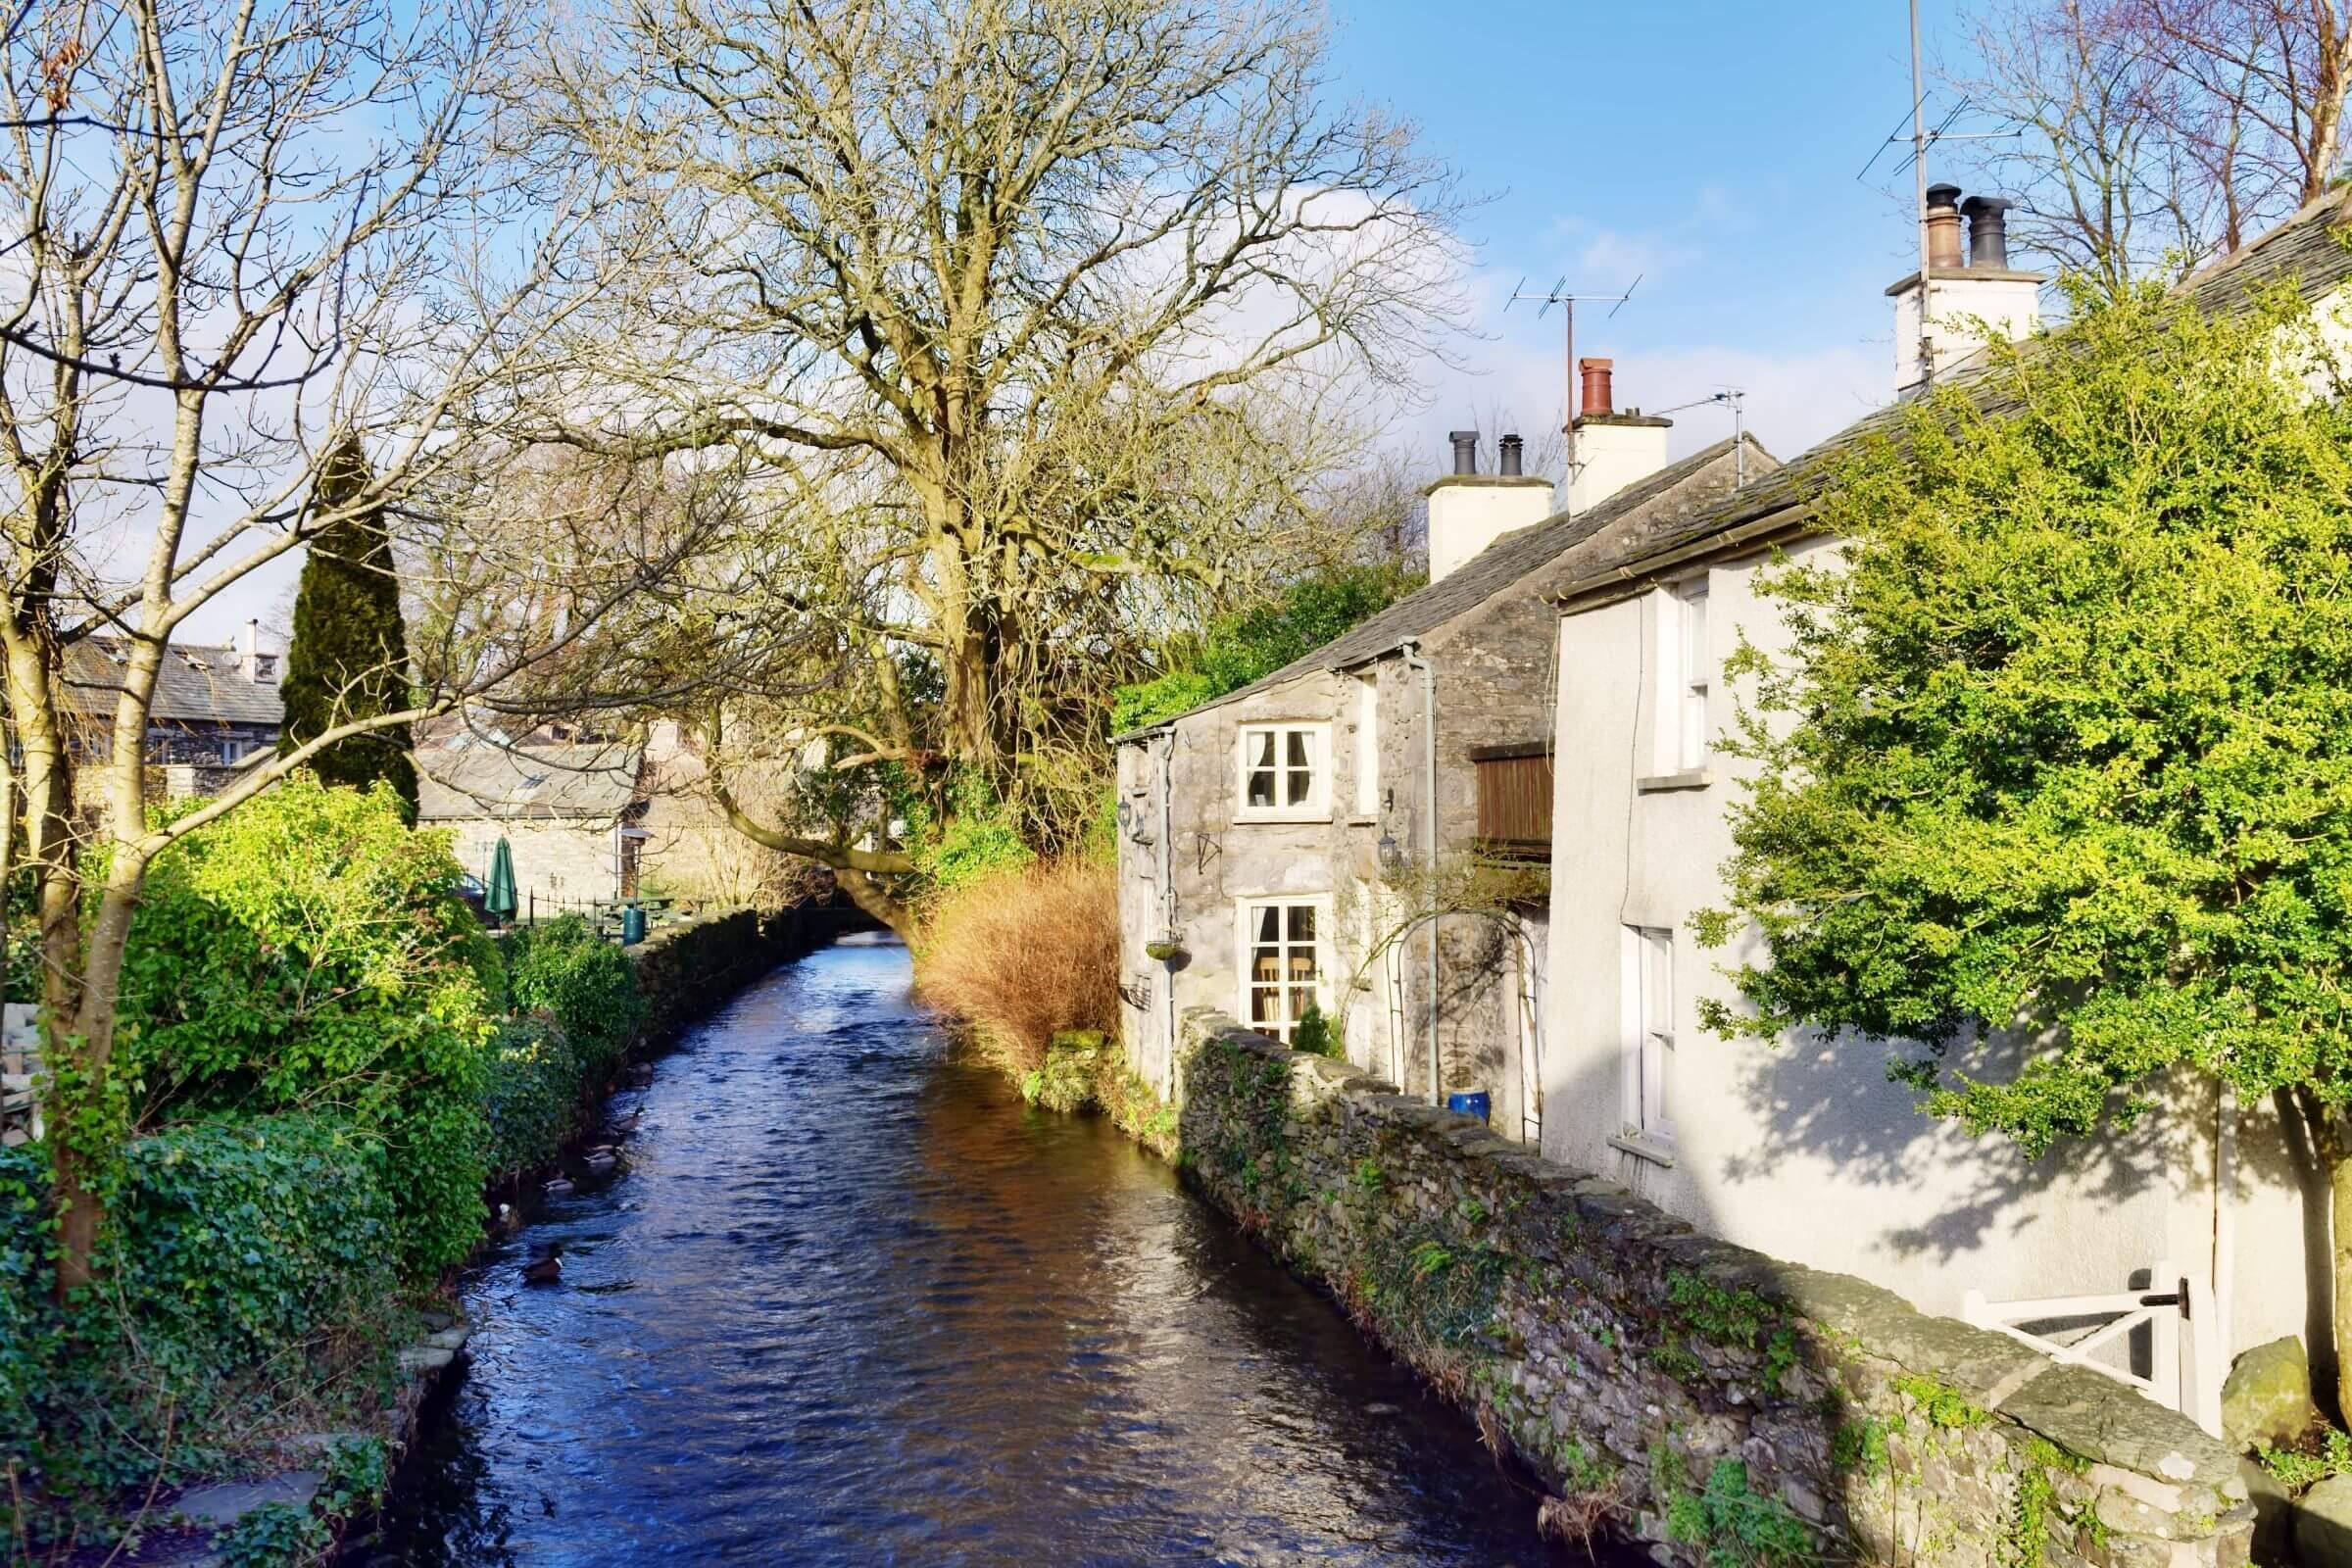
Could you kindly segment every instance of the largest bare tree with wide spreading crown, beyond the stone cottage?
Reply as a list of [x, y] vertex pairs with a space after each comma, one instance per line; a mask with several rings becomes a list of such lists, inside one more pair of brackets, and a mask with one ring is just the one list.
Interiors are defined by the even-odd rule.
[[[626, 388], [564, 435], [762, 475], [774, 614], [856, 665], [776, 722], [847, 731], [835, 766], [1101, 750], [1112, 632], [1261, 569], [1454, 313], [1449, 176], [1327, 106], [1289, 7], [609, 0], [586, 35], [543, 99], [666, 263], [555, 360]], [[854, 896], [908, 867], [736, 820]]]

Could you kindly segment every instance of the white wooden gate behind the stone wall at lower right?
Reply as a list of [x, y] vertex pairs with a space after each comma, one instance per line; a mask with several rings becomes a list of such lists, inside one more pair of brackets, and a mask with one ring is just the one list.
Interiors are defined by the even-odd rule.
[[[2006, 1333], [2020, 1345], [2039, 1349], [2051, 1361], [2089, 1366], [2093, 1373], [2114, 1378], [2140, 1389], [2147, 1399], [2180, 1410], [2192, 1422], [2220, 1436], [2220, 1380], [2223, 1368], [2220, 1321], [2213, 1316], [2213, 1293], [2183, 1279], [2171, 1262], [2159, 1262], [2147, 1274], [2145, 1291], [2114, 1291], [2110, 1295], [2044, 1295], [2042, 1300], [1992, 1302], [1983, 1291], [1962, 1298], [1959, 1314], [1978, 1328]], [[2100, 1321], [2105, 1319], [2105, 1321]], [[2056, 1340], [2027, 1333], [2025, 1324], [2058, 1326], [2077, 1331], [2072, 1340]], [[2147, 1326], [2150, 1356], [2147, 1373], [2131, 1368], [2131, 1333]], [[2060, 1333], [2053, 1328], [2053, 1333]], [[2103, 1356], [2124, 1356], [2124, 1363]]]

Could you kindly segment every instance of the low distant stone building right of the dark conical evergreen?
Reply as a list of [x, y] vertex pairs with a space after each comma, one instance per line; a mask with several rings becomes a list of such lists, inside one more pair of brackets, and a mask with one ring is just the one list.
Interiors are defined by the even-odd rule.
[[445, 827], [459, 865], [489, 879], [503, 837], [529, 914], [637, 893], [644, 752], [621, 741], [501, 745], [459, 733], [416, 750], [416, 823]]

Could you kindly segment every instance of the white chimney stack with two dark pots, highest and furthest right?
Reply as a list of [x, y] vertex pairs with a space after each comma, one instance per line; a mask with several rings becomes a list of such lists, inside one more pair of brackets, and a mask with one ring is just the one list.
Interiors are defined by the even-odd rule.
[[[1971, 195], [1959, 186], [1926, 188], [1926, 284], [1919, 273], [1886, 289], [1896, 301], [1896, 395], [1907, 397], [1952, 369], [1997, 334], [2032, 336], [2042, 324], [2042, 273], [2009, 266], [2004, 197]], [[1969, 254], [1959, 252], [1959, 221], [1969, 219]]]

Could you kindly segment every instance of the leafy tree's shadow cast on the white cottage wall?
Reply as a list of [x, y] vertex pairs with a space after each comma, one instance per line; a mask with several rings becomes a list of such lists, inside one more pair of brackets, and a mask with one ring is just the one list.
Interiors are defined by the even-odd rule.
[[[1952, 1262], [1978, 1248], [2025, 1239], [2058, 1185], [2091, 1201], [2126, 1204], [2157, 1187], [2173, 1199], [2211, 1201], [2216, 1098], [2209, 1084], [2176, 1079], [2161, 1103], [2131, 1126], [2070, 1140], [2025, 1159], [1997, 1133], [1966, 1135], [1922, 1112], [1912, 1093], [1886, 1081], [1889, 1048], [1865, 1037], [1799, 1034], [1785, 1046], [1710, 1041], [1738, 1056], [1740, 1095], [1762, 1128], [1759, 1140], [1724, 1161], [1726, 1182], [1773, 1182], [1792, 1161], [1828, 1161], [1839, 1175], [1889, 1190], [1938, 1185], [1945, 1199], [1924, 1225], [1886, 1229], [1879, 1241], [1898, 1258]], [[1952, 1065], [1971, 1077], [2006, 1079], [2025, 1048], [1978, 1046]], [[2331, 1361], [2333, 1260], [2328, 1251], [2326, 1175], [2293, 1117], [2274, 1105], [2246, 1107], [2239, 1121], [2237, 1201], [2258, 1192], [2300, 1194], [2303, 1342]], [[2249, 1286], [2253, 1281], [2246, 1281]], [[2328, 1366], [2333, 1382], [2333, 1366]]]

